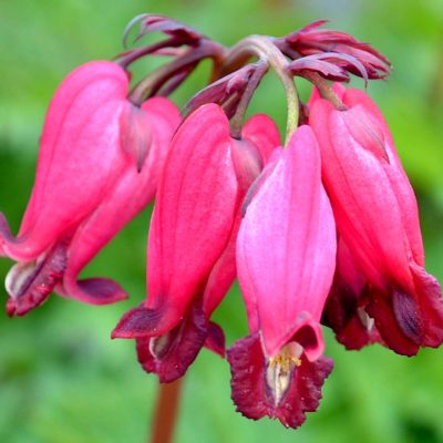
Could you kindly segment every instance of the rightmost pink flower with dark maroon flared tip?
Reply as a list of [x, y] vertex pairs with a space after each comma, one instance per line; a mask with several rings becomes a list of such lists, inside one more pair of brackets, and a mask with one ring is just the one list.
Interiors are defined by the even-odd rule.
[[443, 341], [441, 289], [423, 268], [415, 196], [375, 104], [360, 91], [337, 91], [347, 110], [317, 99], [309, 122], [338, 231], [365, 279], [360, 293], [349, 288], [359, 302], [348, 319], [363, 318], [389, 348], [413, 356]]

